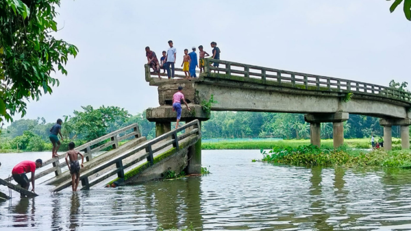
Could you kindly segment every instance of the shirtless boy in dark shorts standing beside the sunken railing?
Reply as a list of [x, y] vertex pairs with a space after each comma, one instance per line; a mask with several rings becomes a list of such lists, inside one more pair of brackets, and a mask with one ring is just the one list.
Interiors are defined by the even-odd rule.
[[[71, 188], [73, 189], [73, 192], [77, 191], [77, 186], [79, 186], [80, 181], [80, 165], [79, 161], [77, 160], [78, 155], [82, 156], [82, 168], [84, 167], [84, 155], [81, 154], [79, 151], [76, 151], [74, 147], [75, 144], [73, 142], [70, 142], [69, 151], [67, 151], [66, 153], [66, 163], [71, 173]], [[70, 165], [69, 160], [67, 160], [67, 158], [70, 158]]]

